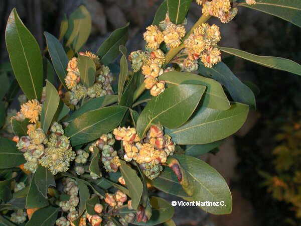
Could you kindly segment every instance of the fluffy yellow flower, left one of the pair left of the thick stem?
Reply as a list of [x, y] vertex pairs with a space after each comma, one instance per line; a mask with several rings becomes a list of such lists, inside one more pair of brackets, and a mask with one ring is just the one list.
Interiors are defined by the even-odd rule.
[[153, 50], [159, 48], [160, 44], [164, 40], [164, 35], [156, 25], [150, 25], [146, 28], [146, 32], [143, 34], [147, 47]]

